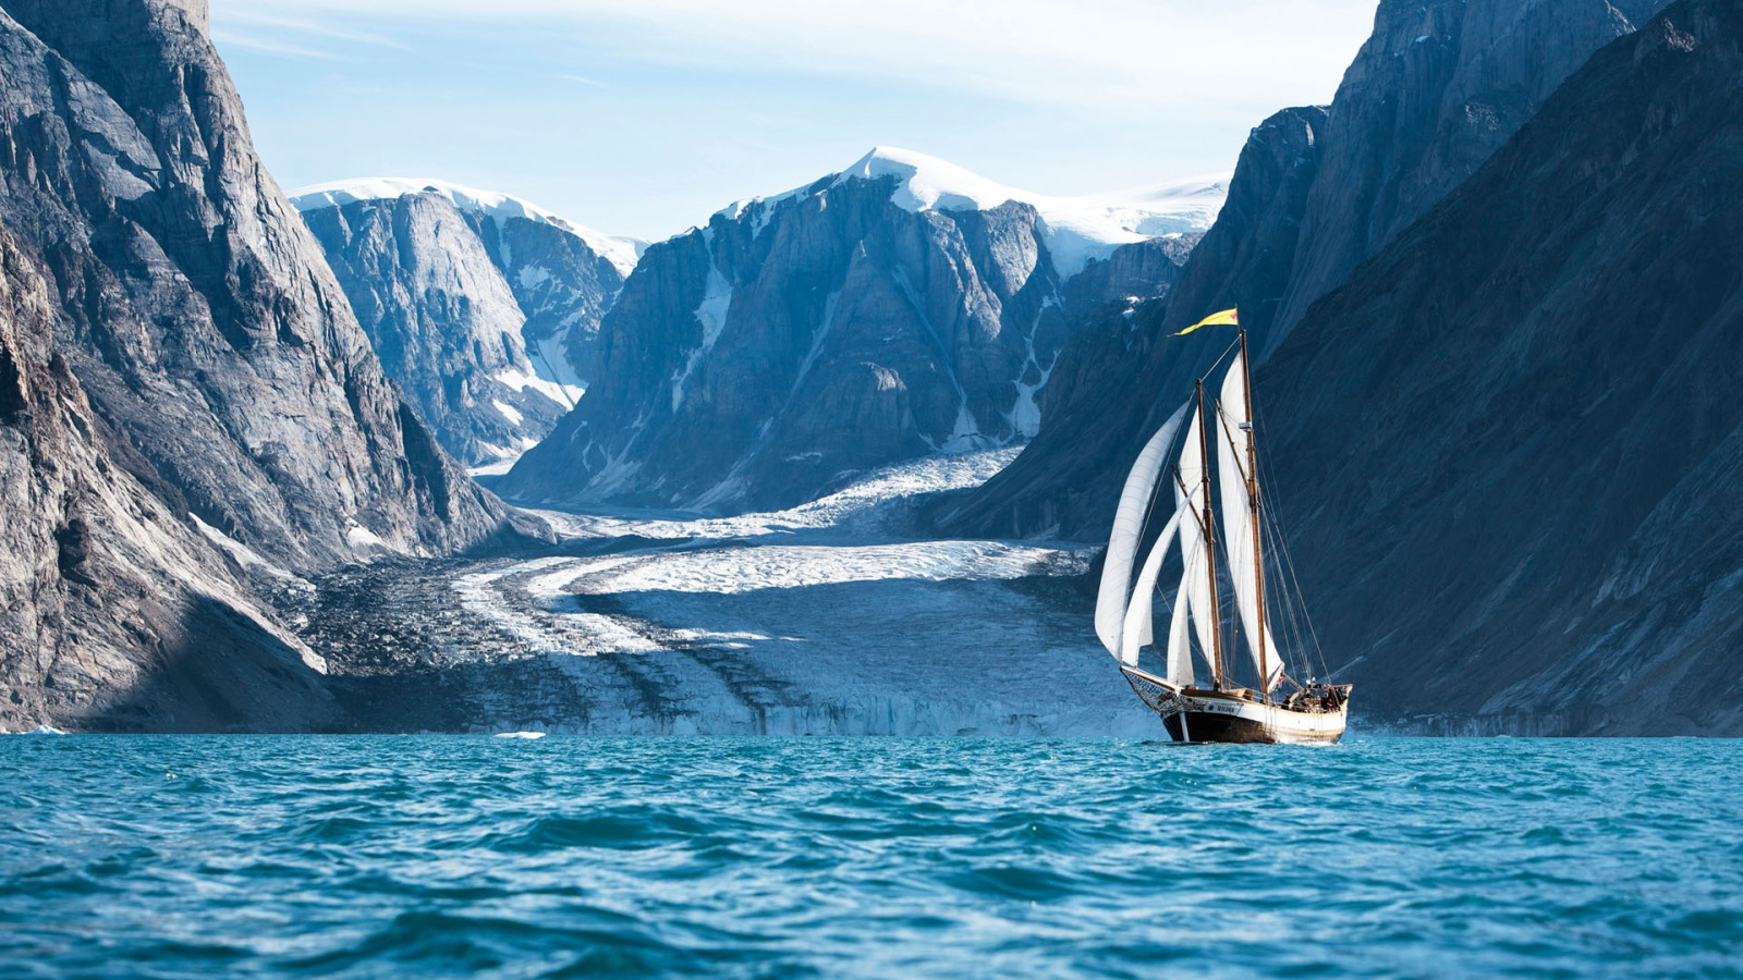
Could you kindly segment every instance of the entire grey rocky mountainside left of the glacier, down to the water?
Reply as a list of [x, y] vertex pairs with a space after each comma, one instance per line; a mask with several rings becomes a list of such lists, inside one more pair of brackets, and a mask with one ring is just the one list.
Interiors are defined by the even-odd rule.
[[202, 0], [0, 7], [0, 724], [315, 724], [319, 659], [242, 581], [509, 513], [383, 377]]

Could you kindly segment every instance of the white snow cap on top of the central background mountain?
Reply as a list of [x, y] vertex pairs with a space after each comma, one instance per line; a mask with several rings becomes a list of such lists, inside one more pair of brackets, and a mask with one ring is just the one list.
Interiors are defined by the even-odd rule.
[[[1053, 197], [1006, 187], [948, 160], [899, 146], [873, 146], [838, 171], [830, 187], [884, 178], [896, 178], [891, 202], [906, 211], [987, 211], [1007, 201], [1030, 204], [1041, 214], [1048, 251], [1063, 277], [1082, 272], [1091, 260], [1107, 258], [1122, 244], [1210, 228], [1229, 194], [1227, 174], [1217, 174], [1128, 192]], [[756, 201], [767, 208], [798, 197], [809, 187], [814, 185], [767, 199], [739, 201], [722, 209], [722, 214], [737, 218]], [[760, 220], [767, 220], [767, 209]]]

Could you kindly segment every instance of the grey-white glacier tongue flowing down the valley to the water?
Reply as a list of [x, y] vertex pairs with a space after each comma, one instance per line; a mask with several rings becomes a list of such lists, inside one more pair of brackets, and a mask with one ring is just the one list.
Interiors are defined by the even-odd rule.
[[905, 514], [1016, 450], [896, 466], [790, 511], [547, 514], [568, 555], [464, 568], [471, 617], [566, 678], [485, 729], [614, 734], [1135, 734], [1161, 729], [1086, 614], [1037, 595], [1088, 553], [915, 541]]

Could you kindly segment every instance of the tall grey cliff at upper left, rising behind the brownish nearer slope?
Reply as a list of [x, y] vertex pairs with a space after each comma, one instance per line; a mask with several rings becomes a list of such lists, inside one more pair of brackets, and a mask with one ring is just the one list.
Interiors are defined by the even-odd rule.
[[0, 221], [58, 349], [174, 514], [291, 570], [495, 534], [504, 509], [382, 375], [249, 145], [199, 10], [7, 0]]

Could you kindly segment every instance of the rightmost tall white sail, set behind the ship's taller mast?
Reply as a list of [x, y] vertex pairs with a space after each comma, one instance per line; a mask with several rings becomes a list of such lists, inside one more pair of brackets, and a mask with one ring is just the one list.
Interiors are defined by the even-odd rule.
[[1283, 673], [1283, 657], [1278, 645], [1265, 631], [1264, 656], [1258, 652], [1258, 568], [1253, 549], [1253, 502], [1246, 490], [1246, 431], [1241, 424], [1253, 415], [1246, 405], [1246, 363], [1245, 354], [1234, 356], [1234, 364], [1222, 382], [1222, 398], [1217, 412], [1217, 429], [1211, 439], [1217, 441], [1217, 490], [1222, 504], [1222, 520], [1217, 530], [1222, 532], [1222, 544], [1229, 556], [1229, 579], [1234, 582], [1234, 605], [1241, 616], [1241, 633], [1246, 636], [1246, 649], [1253, 656], [1253, 666], [1265, 678], [1269, 691]]

